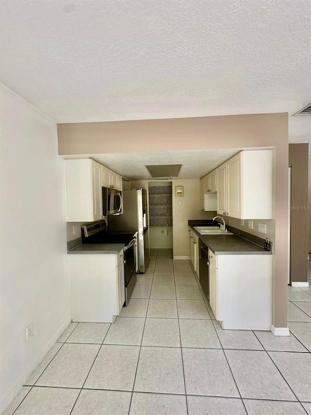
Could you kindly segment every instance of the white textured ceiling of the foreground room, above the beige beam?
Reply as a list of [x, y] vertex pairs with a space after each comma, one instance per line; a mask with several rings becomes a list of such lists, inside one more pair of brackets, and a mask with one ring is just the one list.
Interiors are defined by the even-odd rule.
[[[310, 0], [1, 0], [1, 82], [58, 123], [311, 102]], [[311, 117], [290, 117], [311, 142]]]

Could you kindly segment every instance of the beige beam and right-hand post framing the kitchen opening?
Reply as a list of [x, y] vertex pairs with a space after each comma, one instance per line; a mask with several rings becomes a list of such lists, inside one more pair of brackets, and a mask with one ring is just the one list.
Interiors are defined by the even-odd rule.
[[273, 325], [287, 326], [288, 114], [58, 125], [59, 154], [274, 147]]

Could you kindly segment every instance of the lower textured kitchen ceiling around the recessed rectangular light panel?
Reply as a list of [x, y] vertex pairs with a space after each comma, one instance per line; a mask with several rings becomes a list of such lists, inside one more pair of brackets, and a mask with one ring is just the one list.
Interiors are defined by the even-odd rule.
[[[178, 179], [199, 179], [242, 148], [79, 155], [91, 157], [128, 180], [154, 180], [146, 165], [182, 164]], [[64, 156], [75, 159], [77, 156]]]

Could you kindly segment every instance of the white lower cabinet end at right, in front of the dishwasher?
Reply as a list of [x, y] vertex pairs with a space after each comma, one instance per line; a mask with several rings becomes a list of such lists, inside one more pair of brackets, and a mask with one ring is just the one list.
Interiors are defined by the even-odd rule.
[[209, 304], [224, 329], [270, 330], [272, 255], [209, 251]]

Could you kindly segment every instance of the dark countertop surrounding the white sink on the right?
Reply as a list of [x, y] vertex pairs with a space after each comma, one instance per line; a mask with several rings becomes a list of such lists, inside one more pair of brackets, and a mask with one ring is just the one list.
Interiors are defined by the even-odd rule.
[[[190, 222], [190, 221], [189, 221]], [[201, 235], [194, 226], [202, 226], [201, 221], [188, 222], [188, 226], [202, 240], [215, 255], [271, 255], [272, 251], [265, 251], [259, 245], [237, 235]], [[213, 224], [213, 221], [209, 221]], [[216, 222], [214, 222], [216, 223]], [[206, 223], [207, 224], [207, 223]], [[231, 229], [232, 232], [232, 229]]]

